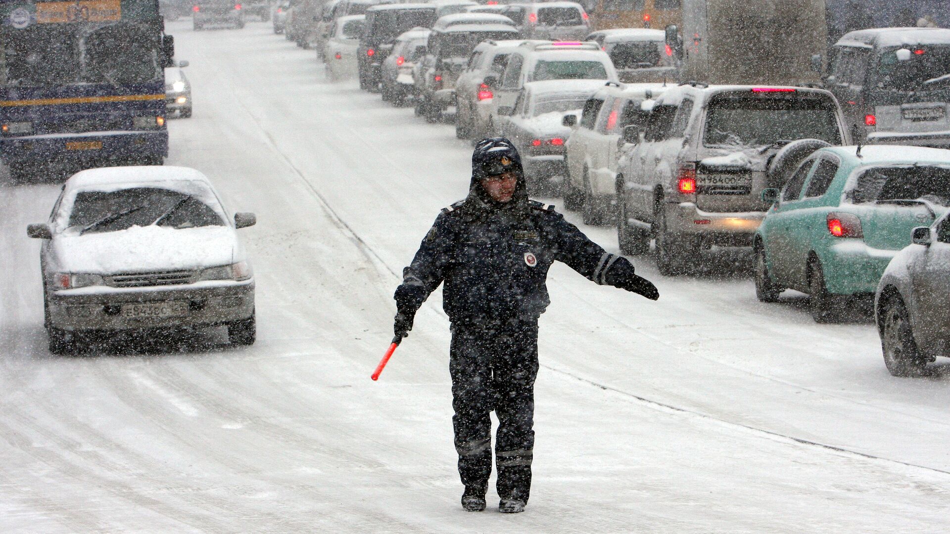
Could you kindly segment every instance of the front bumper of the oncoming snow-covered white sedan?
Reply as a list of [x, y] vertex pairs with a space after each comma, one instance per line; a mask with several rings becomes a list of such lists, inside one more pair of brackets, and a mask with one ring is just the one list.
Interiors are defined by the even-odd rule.
[[[254, 313], [254, 279], [216, 280], [177, 286], [86, 287], [47, 294], [49, 326], [66, 331], [120, 331], [207, 326], [245, 319]], [[126, 317], [124, 304], [187, 301], [185, 315]]]

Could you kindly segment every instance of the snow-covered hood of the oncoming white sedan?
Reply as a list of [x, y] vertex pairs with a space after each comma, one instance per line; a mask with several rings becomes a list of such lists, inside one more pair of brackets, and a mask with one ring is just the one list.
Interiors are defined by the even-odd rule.
[[57, 271], [96, 275], [178, 271], [244, 259], [230, 226], [175, 229], [153, 224], [82, 236], [67, 231], [50, 246]]

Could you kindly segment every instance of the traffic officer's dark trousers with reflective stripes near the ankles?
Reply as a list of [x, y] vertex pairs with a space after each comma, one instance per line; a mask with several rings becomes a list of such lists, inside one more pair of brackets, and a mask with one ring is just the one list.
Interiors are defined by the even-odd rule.
[[491, 474], [491, 419], [495, 410], [498, 494], [527, 502], [534, 448], [534, 381], [538, 322], [452, 326], [452, 426], [459, 475], [466, 486], [486, 487]]

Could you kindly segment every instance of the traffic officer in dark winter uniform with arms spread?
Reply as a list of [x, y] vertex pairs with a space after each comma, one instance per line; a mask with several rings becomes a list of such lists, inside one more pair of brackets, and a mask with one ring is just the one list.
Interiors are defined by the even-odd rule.
[[451, 321], [449, 372], [455, 448], [466, 510], [485, 509], [491, 474], [491, 419], [499, 427], [495, 463], [503, 512], [521, 512], [531, 486], [538, 317], [550, 300], [548, 268], [563, 261], [584, 277], [656, 300], [648, 280], [624, 257], [605, 252], [561, 214], [528, 200], [521, 158], [504, 138], [472, 154], [468, 196], [442, 210], [396, 289], [397, 338], [445, 282]]

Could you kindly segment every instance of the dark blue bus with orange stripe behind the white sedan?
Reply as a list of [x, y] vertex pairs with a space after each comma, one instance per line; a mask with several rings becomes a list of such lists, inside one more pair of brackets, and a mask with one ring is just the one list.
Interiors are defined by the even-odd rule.
[[161, 164], [173, 55], [158, 0], [0, 0], [0, 160], [11, 180]]

